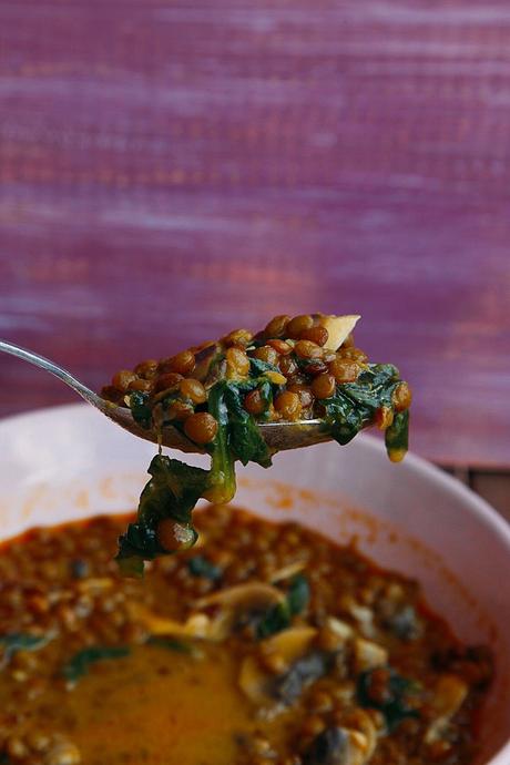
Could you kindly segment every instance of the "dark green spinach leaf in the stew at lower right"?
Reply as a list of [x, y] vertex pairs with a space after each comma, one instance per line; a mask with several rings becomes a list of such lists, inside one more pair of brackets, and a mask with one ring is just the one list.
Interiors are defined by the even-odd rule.
[[411, 680], [402, 677], [391, 667], [387, 667], [386, 671], [388, 679], [382, 700], [380, 700], [379, 694], [374, 696], [371, 692], [373, 675], [380, 670], [361, 672], [357, 681], [356, 695], [361, 706], [379, 710], [382, 713], [386, 727], [391, 733], [402, 720], [419, 717], [419, 712], [408, 704], [408, 696], [415, 691], [416, 684]]

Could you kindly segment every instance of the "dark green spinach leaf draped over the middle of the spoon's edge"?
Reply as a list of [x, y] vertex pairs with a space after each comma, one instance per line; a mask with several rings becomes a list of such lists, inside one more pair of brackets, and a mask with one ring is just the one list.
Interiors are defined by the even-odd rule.
[[239, 386], [225, 387], [225, 404], [228, 410], [228, 437], [232, 449], [243, 465], [257, 462], [263, 468], [271, 466], [271, 453], [256, 422], [243, 406]]

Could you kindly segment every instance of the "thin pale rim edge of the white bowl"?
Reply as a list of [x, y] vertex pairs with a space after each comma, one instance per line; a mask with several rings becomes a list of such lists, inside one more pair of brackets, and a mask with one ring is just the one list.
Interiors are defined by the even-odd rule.
[[[29, 418], [45, 418], [48, 416], [59, 414], [62, 416], [72, 415], [76, 410], [84, 411], [90, 408], [89, 404], [84, 402], [73, 402], [73, 404], [58, 404], [48, 407], [37, 407], [32, 409], [27, 409], [21, 412], [16, 412], [13, 415], [8, 415], [0, 418], [0, 434], [4, 427], [9, 428], [16, 425], [19, 420], [26, 420]], [[364, 447], [373, 452], [380, 453], [384, 450], [384, 443], [375, 438], [374, 436], [363, 432], [357, 437], [364, 442]], [[410, 470], [418, 478], [434, 483], [438, 489], [453, 494], [457, 497], [460, 503], [465, 507], [469, 507], [470, 512], [476, 517], [476, 519], [486, 528], [488, 528], [491, 533], [498, 539], [499, 543], [502, 544], [506, 552], [510, 557], [510, 523], [508, 523], [503, 517], [492, 508], [487, 500], [477, 494], [472, 489], [465, 486], [455, 476], [450, 476], [441, 468], [429, 462], [428, 460], [408, 452], [404, 463], [406, 470]], [[509, 765], [510, 763], [510, 737], [506, 744], [494, 754], [494, 756], [484, 763], [484, 765]]]

